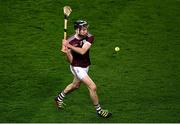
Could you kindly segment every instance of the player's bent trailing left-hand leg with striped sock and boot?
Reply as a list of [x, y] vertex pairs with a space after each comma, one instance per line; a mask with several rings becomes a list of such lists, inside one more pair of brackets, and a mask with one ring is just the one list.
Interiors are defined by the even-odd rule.
[[66, 88], [61, 93], [59, 93], [59, 95], [55, 98], [56, 105], [59, 109], [64, 108], [65, 106], [65, 104], [63, 103], [63, 99], [66, 96], [66, 94], [79, 88], [80, 84], [81, 81], [74, 77], [73, 82], [66, 86]]

